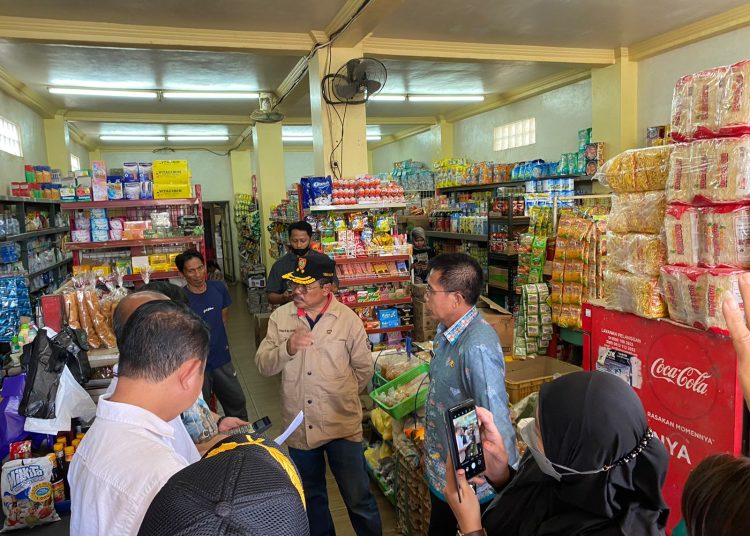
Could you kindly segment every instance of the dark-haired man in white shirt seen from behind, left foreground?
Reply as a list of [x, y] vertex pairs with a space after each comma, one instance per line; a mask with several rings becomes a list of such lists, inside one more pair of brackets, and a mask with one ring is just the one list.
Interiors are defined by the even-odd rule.
[[150, 301], [125, 323], [118, 346], [117, 386], [99, 399], [71, 464], [71, 534], [136, 535], [153, 497], [194, 461], [176, 450], [169, 423], [201, 392], [203, 321], [184, 305]]

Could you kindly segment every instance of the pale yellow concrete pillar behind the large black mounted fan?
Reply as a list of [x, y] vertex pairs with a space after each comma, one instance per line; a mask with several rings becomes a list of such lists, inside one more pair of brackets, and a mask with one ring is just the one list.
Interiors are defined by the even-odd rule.
[[[337, 48], [330, 51], [331, 74], [353, 58], [362, 57], [362, 48]], [[364, 175], [368, 170], [367, 158], [367, 120], [365, 105], [336, 105], [328, 104], [323, 99], [321, 81], [328, 68], [328, 51], [322, 49], [310, 60], [310, 111], [313, 127], [313, 153], [315, 174], [338, 175], [341, 177], [356, 177]], [[337, 113], [338, 112], [338, 115]], [[339, 120], [339, 116], [341, 120]], [[343, 142], [341, 140], [343, 121]], [[335, 149], [334, 149], [335, 148]], [[332, 163], [335, 162], [337, 168]]]

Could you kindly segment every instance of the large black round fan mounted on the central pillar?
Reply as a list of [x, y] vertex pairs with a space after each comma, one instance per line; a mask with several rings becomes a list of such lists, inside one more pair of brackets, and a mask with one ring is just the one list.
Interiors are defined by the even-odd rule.
[[328, 104], [364, 104], [385, 86], [385, 65], [374, 58], [346, 62], [336, 74], [323, 77], [323, 99]]

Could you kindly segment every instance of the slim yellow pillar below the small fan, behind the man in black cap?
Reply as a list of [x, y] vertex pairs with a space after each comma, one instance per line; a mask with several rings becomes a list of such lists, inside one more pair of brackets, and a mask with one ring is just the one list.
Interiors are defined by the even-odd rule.
[[[266, 265], [266, 272], [269, 272], [273, 264], [273, 259], [268, 254], [268, 248], [271, 244], [268, 233], [268, 224], [270, 223], [269, 211], [271, 210], [271, 205], [278, 204], [286, 193], [281, 123], [257, 123], [253, 128], [253, 148], [255, 171], [258, 178], [260, 222], [263, 233], [263, 242], [261, 244], [263, 262]], [[232, 181], [234, 182], [234, 171], [232, 172]]]

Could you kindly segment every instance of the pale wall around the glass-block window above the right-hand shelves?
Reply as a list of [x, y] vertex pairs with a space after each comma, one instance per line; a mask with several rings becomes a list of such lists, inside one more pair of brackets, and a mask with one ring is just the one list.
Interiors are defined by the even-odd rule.
[[[536, 118], [536, 144], [494, 151], [495, 127]], [[475, 162], [517, 162], [543, 158], [558, 160], [560, 153], [578, 150], [578, 131], [591, 126], [591, 80], [550, 91], [497, 108], [454, 125], [454, 153]]]

